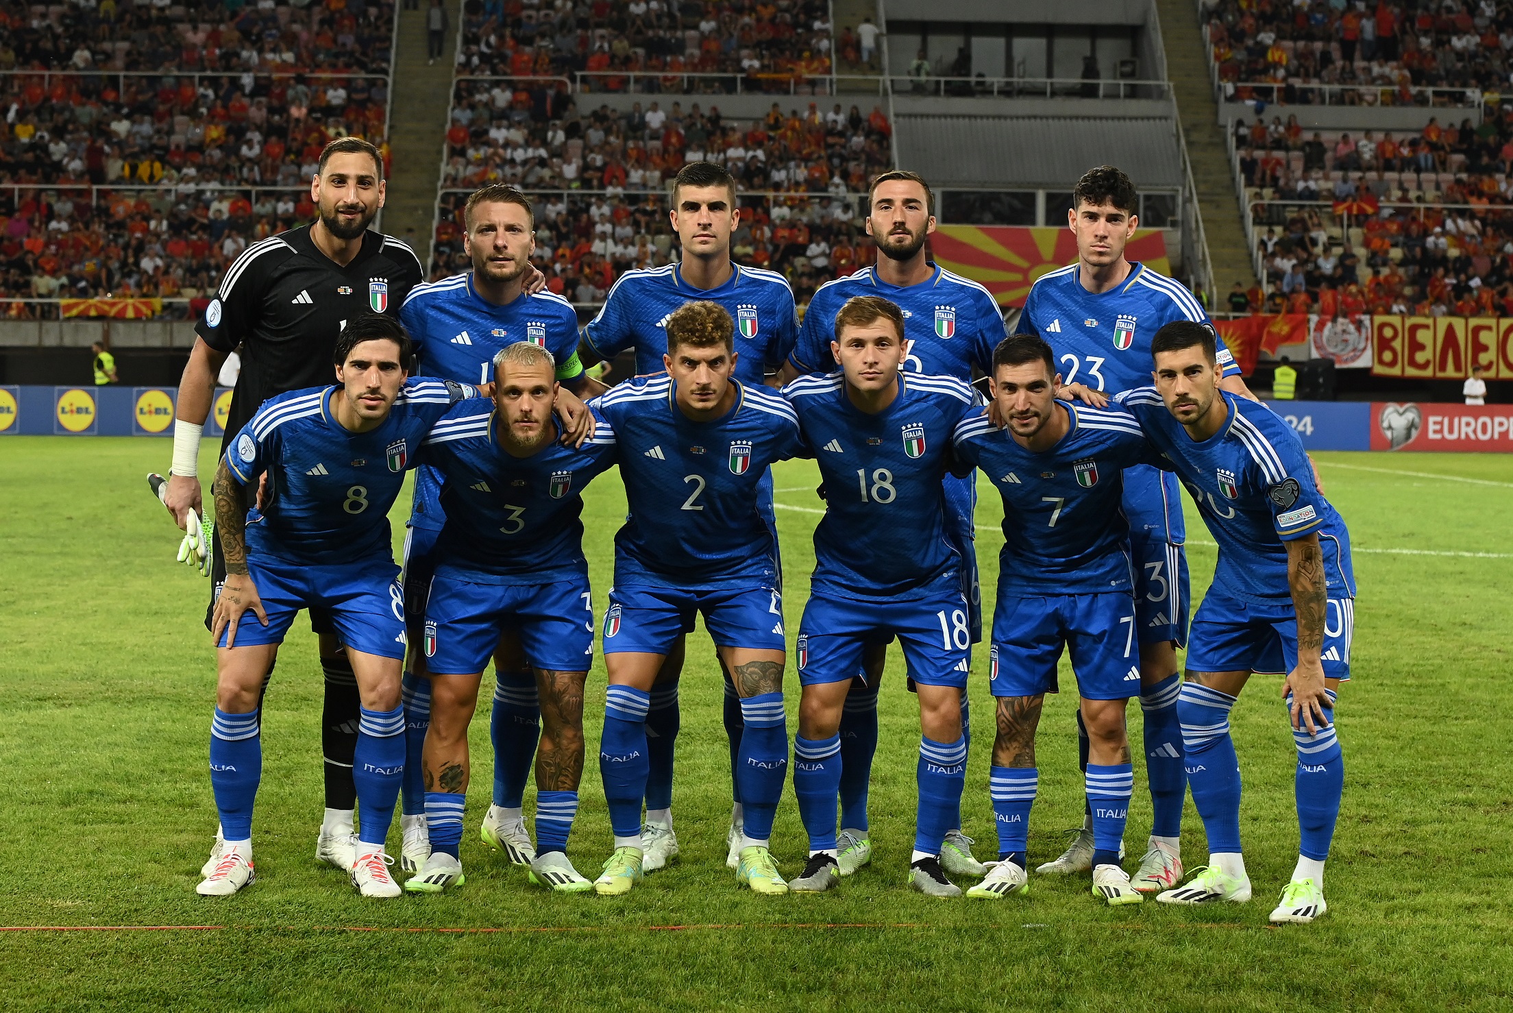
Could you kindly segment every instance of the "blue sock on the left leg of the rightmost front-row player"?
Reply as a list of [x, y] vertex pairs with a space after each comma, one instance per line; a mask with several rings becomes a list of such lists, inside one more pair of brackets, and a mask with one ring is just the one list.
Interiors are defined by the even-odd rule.
[[1183, 683], [1177, 697], [1188, 786], [1209, 837], [1209, 856], [1241, 854], [1239, 760], [1229, 727], [1235, 700], [1197, 683]]

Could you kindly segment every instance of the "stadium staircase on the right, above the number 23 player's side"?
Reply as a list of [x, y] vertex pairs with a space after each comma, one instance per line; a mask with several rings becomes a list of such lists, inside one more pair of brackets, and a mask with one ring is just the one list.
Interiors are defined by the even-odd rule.
[[1244, 282], [1245, 288], [1256, 282], [1250, 250], [1245, 247], [1229, 148], [1224, 129], [1218, 124], [1197, 8], [1192, 0], [1156, 0], [1156, 11], [1167, 50], [1167, 77], [1188, 139], [1192, 183], [1198, 191], [1209, 260], [1213, 265], [1216, 291], [1210, 294], [1210, 309], [1223, 309], [1221, 300], [1235, 282]]

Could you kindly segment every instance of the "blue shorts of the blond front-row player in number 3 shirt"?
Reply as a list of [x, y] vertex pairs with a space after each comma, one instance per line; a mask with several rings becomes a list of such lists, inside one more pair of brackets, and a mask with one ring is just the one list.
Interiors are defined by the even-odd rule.
[[433, 675], [475, 675], [489, 666], [499, 637], [517, 630], [536, 668], [584, 672], [593, 665], [593, 598], [589, 575], [539, 584], [492, 584], [443, 566], [431, 578], [421, 647]]

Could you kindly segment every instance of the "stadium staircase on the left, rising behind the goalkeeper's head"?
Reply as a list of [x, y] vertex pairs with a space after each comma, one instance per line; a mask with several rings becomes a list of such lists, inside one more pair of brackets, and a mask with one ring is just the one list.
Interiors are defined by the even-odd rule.
[[431, 262], [436, 183], [442, 173], [440, 151], [446, 138], [446, 112], [452, 101], [452, 53], [461, 21], [461, 2], [448, 5], [446, 42], [442, 59], [425, 61], [425, 11], [430, 0], [399, 11], [399, 45], [393, 56], [393, 109], [389, 114], [389, 145], [393, 168], [384, 203], [383, 230], [398, 236]]

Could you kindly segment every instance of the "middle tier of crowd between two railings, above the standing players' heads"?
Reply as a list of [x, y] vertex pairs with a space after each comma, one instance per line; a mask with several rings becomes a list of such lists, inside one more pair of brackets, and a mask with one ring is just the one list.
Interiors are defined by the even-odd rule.
[[[516, 82], [517, 83], [517, 82]], [[726, 120], [679, 100], [649, 100], [629, 112], [607, 104], [579, 115], [566, 91], [511, 91], [510, 82], [460, 82], [446, 135], [442, 185], [507, 182], [527, 189], [660, 192], [684, 162], [722, 162], [747, 191], [865, 192], [891, 165], [891, 124], [882, 109], [847, 111], [809, 101], [787, 114], [775, 101], [763, 120]]]

